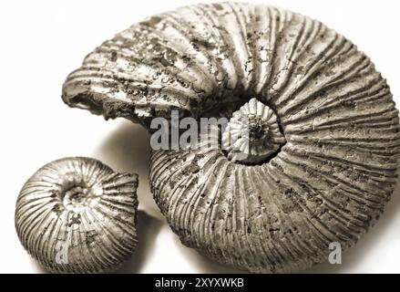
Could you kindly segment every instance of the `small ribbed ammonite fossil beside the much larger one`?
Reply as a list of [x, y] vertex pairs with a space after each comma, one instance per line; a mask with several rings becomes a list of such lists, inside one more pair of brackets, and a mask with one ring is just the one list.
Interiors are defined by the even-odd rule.
[[47, 163], [25, 183], [15, 228], [26, 251], [54, 273], [117, 269], [136, 244], [137, 174], [85, 157]]

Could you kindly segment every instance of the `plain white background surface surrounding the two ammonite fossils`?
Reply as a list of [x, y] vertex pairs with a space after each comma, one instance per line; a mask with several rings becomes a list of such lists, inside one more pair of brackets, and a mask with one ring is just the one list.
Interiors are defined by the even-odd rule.
[[[15, 234], [15, 199], [41, 165], [91, 156], [118, 171], [138, 172], [139, 244], [120, 272], [233, 271], [180, 245], [149, 192], [149, 136], [126, 120], [105, 121], [60, 99], [67, 74], [104, 40], [146, 16], [199, 1], [0, 2], [0, 272], [39, 273]], [[203, 0], [203, 2], [208, 2]], [[261, 3], [262, 1], [258, 1]], [[400, 104], [399, 1], [264, 1], [323, 21], [372, 58]], [[344, 253], [343, 265], [308, 272], [399, 273], [400, 188], [385, 214]]]

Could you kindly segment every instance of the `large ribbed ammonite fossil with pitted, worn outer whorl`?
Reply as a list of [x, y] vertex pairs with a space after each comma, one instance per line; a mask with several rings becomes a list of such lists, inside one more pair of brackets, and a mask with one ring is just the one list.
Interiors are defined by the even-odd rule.
[[249, 141], [244, 161], [235, 149], [154, 151], [150, 182], [184, 245], [238, 268], [326, 260], [395, 188], [399, 120], [385, 79], [344, 36], [287, 10], [221, 3], [149, 17], [90, 53], [63, 99], [148, 128], [171, 110], [230, 119], [221, 144]]

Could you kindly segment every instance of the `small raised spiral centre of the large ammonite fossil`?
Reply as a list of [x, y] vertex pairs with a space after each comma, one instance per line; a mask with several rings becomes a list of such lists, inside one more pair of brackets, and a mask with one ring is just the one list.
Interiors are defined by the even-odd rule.
[[285, 141], [273, 110], [254, 98], [233, 112], [222, 133], [228, 159], [247, 164], [264, 162]]

